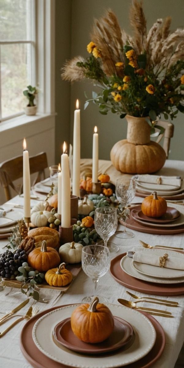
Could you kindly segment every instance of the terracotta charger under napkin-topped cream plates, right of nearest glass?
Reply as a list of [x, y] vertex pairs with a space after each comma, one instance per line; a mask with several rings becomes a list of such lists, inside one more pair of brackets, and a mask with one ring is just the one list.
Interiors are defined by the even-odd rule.
[[[182, 252], [183, 253], [183, 252]], [[113, 258], [110, 263], [110, 274], [119, 284], [128, 287], [140, 293], [152, 294], [152, 295], [183, 295], [184, 294], [184, 283], [181, 284], [162, 284], [162, 283], [149, 283], [140, 279], [136, 279], [125, 273], [120, 266], [121, 258], [126, 253], [120, 254]]]

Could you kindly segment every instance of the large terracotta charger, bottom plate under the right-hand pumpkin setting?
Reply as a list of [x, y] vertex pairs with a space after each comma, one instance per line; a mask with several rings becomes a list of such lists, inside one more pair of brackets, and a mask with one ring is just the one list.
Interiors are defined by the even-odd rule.
[[[129, 229], [141, 231], [141, 233], [147, 234], [158, 234], [158, 235], [172, 235], [172, 234], [181, 234], [184, 233], [184, 225], [173, 226], [173, 227], [151, 227], [148, 225], [144, 225], [142, 223], [136, 222], [136, 220], [132, 217], [131, 211], [136, 209], [138, 206], [132, 206], [130, 208], [130, 219], [126, 221], [126, 227]], [[119, 220], [120, 224], [124, 225], [124, 221]]]

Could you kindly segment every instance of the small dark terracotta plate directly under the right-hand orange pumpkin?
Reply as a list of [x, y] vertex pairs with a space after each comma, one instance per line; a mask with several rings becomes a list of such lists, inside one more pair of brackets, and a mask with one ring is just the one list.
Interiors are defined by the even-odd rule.
[[146, 215], [144, 215], [144, 213], [141, 211], [141, 205], [137, 206], [136, 208], [136, 217], [139, 220], [142, 220], [144, 222], [151, 222], [151, 223], [155, 223], [155, 224], [167, 224], [170, 222], [175, 221], [178, 217], [180, 217], [180, 212], [173, 207], [167, 207], [167, 211], [166, 213], [164, 213], [163, 216], [160, 217], [148, 217]]

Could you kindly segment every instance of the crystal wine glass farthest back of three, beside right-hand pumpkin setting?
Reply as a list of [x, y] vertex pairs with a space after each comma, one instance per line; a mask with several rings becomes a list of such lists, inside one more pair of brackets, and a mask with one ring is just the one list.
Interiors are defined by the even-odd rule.
[[[135, 179], [121, 177], [116, 181], [116, 198], [120, 202], [122, 208], [129, 205], [135, 197]], [[126, 219], [125, 219], [126, 221]], [[133, 238], [134, 234], [131, 231], [126, 231], [126, 222], [124, 222], [124, 231], [116, 234], [117, 238], [128, 239]]]

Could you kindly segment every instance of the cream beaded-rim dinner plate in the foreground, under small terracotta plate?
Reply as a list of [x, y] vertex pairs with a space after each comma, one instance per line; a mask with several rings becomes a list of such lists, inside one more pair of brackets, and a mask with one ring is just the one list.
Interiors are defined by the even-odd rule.
[[58, 347], [52, 338], [53, 329], [61, 320], [70, 317], [77, 306], [74, 304], [55, 309], [39, 318], [33, 327], [32, 336], [36, 346], [52, 360], [77, 368], [115, 368], [136, 362], [152, 349], [156, 332], [149, 319], [133, 309], [114, 304], [107, 304], [112, 314], [125, 319], [134, 329], [135, 341], [127, 350], [120, 349], [106, 356], [91, 357], [75, 353], [64, 346]]

